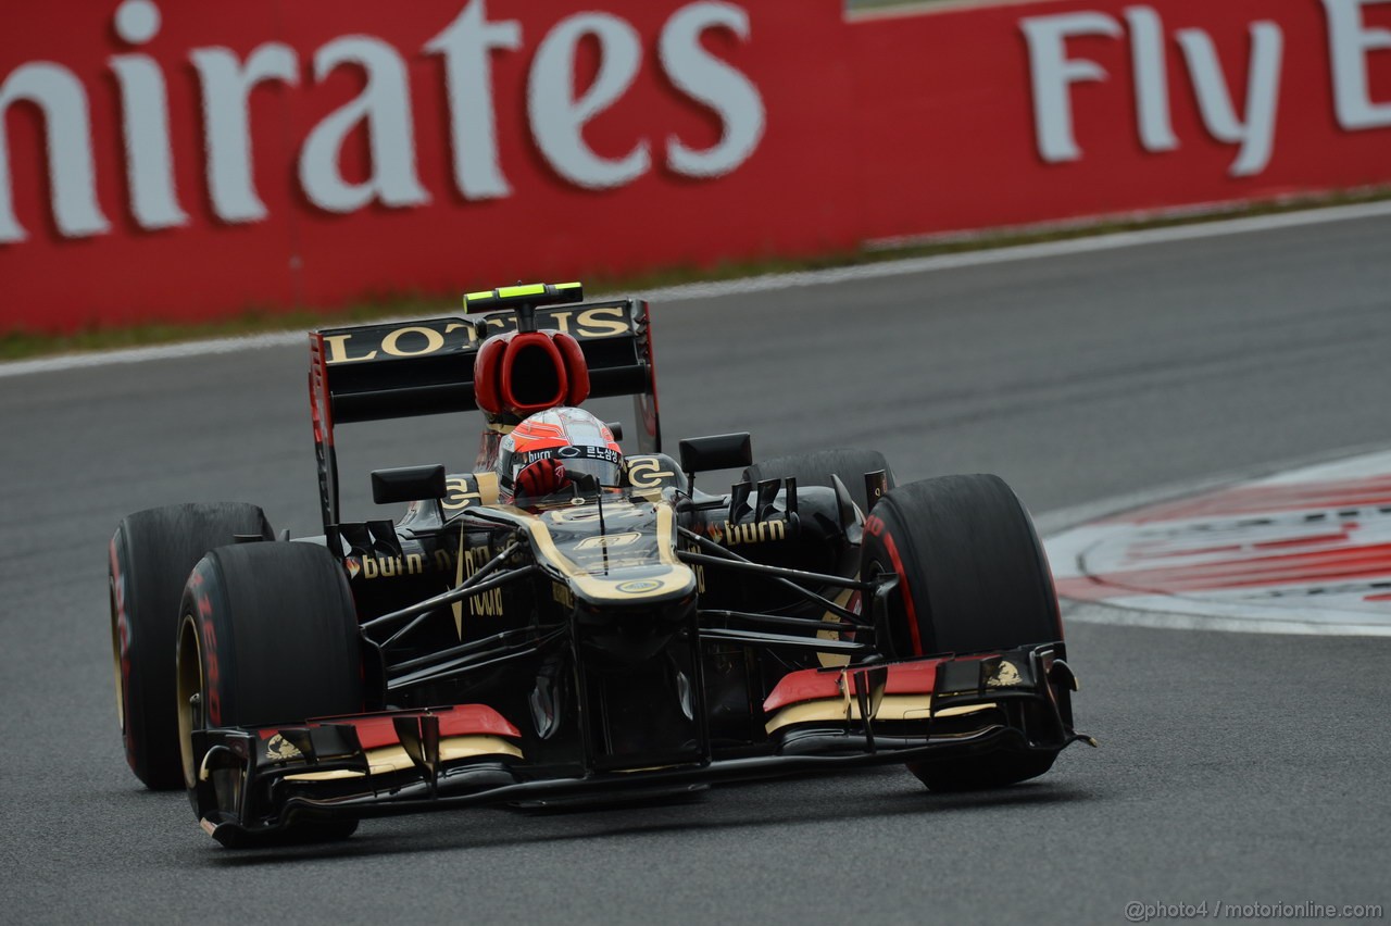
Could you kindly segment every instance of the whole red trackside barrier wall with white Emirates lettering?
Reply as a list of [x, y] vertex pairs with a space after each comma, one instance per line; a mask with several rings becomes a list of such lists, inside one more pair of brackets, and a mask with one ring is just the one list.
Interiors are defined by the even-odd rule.
[[1384, 0], [849, 19], [842, 0], [124, 0], [0, 21], [0, 331], [1391, 182]]

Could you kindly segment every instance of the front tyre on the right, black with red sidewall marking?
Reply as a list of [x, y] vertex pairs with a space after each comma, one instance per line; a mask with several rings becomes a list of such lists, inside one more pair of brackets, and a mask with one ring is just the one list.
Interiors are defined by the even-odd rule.
[[[1057, 592], [1028, 510], [997, 476], [901, 485], [865, 523], [861, 573], [897, 573], [897, 653], [971, 653], [1063, 640]], [[1049, 770], [1056, 751], [1011, 749], [910, 765], [935, 791], [1000, 787]]]

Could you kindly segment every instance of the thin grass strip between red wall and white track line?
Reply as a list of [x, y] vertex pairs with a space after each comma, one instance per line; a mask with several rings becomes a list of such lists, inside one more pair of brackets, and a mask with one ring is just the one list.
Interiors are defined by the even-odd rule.
[[[739, 279], [765, 274], [779, 274], [835, 267], [903, 260], [907, 257], [928, 257], [967, 250], [1011, 247], [1050, 241], [1088, 238], [1121, 231], [1166, 228], [1188, 225], [1223, 218], [1269, 216], [1320, 206], [1341, 206], [1391, 199], [1391, 188], [1363, 189], [1337, 195], [1320, 195], [1285, 199], [1259, 204], [1213, 206], [1202, 210], [1173, 213], [1166, 216], [1138, 216], [1134, 220], [1111, 220], [1104, 222], [1052, 225], [1032, 229], [1000, 232], [963, 234], [953, 236], [924, 238], [915, 242], [897, 242], [867, 246], [853, 252], [818, 254], [805, 257], [771, 259], [721, 264], [718, 267], [673, 267], [650, 274], [632, 277], [584, 277], [586, 291], [595, 293], [625, 293], [641, 289], [657, 289], [700, 281]], [[480, 281], [480, 285], [491, 285]], [[460, 288], [460, 292], [463, 289]], [[363, 302], [342, 309], [299, 309], [292, 311], [249, 310], [235, 317], [203, 324], [147, 323], [120, 328], [89, 328], [74, 334], [43, 334], [24, 330], [0, 332], [0, 360], [19, 360], [57, 353], [86, 350], [111, 350], [118, 348], [149, 346], [182, 341], [202, 341], [274, 331], [307, 331], [328, 325], [359, 324], [381, 318], [433, 317], [458, 314], [456, 295], [398, 296]]]

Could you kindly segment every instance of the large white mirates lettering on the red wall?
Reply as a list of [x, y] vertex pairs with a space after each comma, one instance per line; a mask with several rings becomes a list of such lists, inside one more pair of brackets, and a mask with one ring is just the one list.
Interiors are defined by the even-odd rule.
[[[167, 4], [168, 6], [168, 4]], [[172, 8], [172, 7], [171, 7]], [[643, 79], [644, 40], [622, 17], [602, 11], [574, 13], [544, 35], [524, 35], [516, 19], [490, 18], [487, 0], [470, 0], [421, 49], [398, 49], [371, 35], [344, 35], [303, 54], [267, 40], [246, 53], [209, 44], [186, 53], [188, 68], [161, 68], [142, 49], [159, 47], [161, 11], [152, 0], [125, 0], [115, 7], [111, 32], [120, 51], [107, 58], [120, 107], [121, 147], [131, 218], [146, 231], [191, 222], [189, 209], [203, 202], [200, 190], [178, 189], [175, 159], [202, 160], [206, 202], [223, 222], [260, 222], [268, 210], [257, 192], [253, 164], [250, 99], [259, 88], [280, 85], [312, 93], [341, 68], [362, 75], [360, 92], [323, 117], [298, 146], [295, 181], [305, 199], [325, 213], [346, 214], [369, 206], [412, 209], [442, 190], [427, 189], [417, 170], [408, 54], [437, 57], [442, 64], [452, 149], [452, 179], [465, 200], [512, 196], [508, 164], [499, 154], [494, 110], [492, 63], [498, 54], [531, 54], [526, 74], [526, 124], [531, 143], [554, 174], [580, 189], [613, 189], [654, 170], [693, 181], [737, 170], [758, 147], [765, 108], [747, 75], [707, 50], [711, 32], [750, 39], [748, 14], [734, 3], [701, 0], [676, 7], [657, 35], [661, 75], [719, 127], [714, 143], [687, 145], [677, 135], [634, 138], [626, 152], [598, 153], [586, 142], [586, 125], [618, 103]], [[593, 75], [576, 83], [584, 46], [597, 50]], [[167, 82], [196, 81], [203, 150], [171, 145]], [[651, 79], [651, 78], [647, 78]], [[113, 231], [97, 189], [93, 147], [93, 100], [70, 67], [28, 61], [0, 74], [0, 245], [22, 242], [42, 228], [39, 217], [21, 220], [14, 209], [14, 184], [6, 117], [26, 103], [43, 117], [53, 225], [63, 238]], [[262, 131], [274, 131], [259, 125]], [[655, 135], [655, 132], [654, 132]], [[364, 175], [345, 175], [345, 147], [366, 140]], [[100, 142], [100, 139], [97, 139]], [[38, 178], [25, 177], [32, 184]], [[110, 202], [110, 200], [107, 200]]]

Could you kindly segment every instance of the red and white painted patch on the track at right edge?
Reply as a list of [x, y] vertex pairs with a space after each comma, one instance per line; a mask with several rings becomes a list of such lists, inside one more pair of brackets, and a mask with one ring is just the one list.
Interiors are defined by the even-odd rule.
[[1047, 548], [1074, 601], [1181, 626], [1391, 634], [1391, 452], [1150, 505]]

